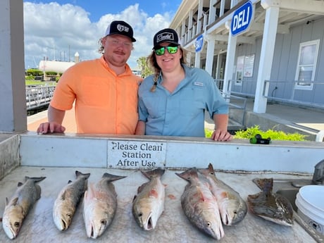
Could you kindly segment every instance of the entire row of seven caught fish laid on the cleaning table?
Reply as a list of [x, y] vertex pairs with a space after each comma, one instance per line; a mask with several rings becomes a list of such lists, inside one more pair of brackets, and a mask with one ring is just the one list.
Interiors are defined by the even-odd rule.
[[[166, 186], [161, 182], [161, 177], [165, 170], [156, 168], [141, 172], [149, 182], [138, 187], [132, 201], [132, 214], [140, 228], [154, 230], [164, 210]], [[239, 193], [216, 177], [211, 164], [206, 169], [189, 168], [175, 174], [188, 182], [181, 196], [185, 216], [195, 227], [214, 239], [221, 239], [225, 235], [223, 225], [237, 225], [242, 221], [247, 208], [266, 220], [292, 225], [292, 206], [284, 197], [282, 199], [280, 195], [272, 193], [272, 179], [258, 179], [257, 185], [262, 192], [249, 195], [246, 204]], [[96, 239], [105, 232], [116, 215], [117, 193], [111, 182], [125, 176], [104, 173], [98, 182], [88, 183], [89, 173], [75, 171], [75, 175], [76, 179], [61, 189], [54, 202], [53, 220], [58, 230], [67, 230], [83, 197], [87, 237]], [[25, 177], [25, 183], [18, 183], [11, 200], [6, 199], [2, 225], [10, 239], [18, 236], [28, 211], [40, 198], [41, 188], [37, 183], [44, 179]]]

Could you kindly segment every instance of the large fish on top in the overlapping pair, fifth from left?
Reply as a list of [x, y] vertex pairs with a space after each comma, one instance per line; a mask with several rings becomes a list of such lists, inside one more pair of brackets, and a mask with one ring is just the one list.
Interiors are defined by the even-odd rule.
[[181, 206], [189, 221], [214, 239], [221, 239], [224, 230], [218, 204], [206, 178], [199, 176], [197, 168], [175, 174], [189, 182], [181, 195]]

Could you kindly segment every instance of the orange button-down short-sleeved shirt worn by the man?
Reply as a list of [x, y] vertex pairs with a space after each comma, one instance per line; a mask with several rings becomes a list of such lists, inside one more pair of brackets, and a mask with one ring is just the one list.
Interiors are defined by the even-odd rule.
[[75, 102], [78, 133], [135, 134], [142, 77], [127, 64], [125, 68], [125, 73], [116, 75], [103, 56], [75, 64], [58, 81], [51, 106], [67, 111]]

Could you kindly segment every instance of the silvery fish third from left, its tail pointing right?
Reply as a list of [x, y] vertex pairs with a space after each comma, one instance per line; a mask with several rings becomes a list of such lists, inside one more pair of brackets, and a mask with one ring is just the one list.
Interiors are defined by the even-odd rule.
[[96, 184], [89, 183], [83, 199], [83, 219], [87, 237], [96, 239], [111, 224], [117, 211], [117, 193], [113, 181], [125, 176], [104, 173]]

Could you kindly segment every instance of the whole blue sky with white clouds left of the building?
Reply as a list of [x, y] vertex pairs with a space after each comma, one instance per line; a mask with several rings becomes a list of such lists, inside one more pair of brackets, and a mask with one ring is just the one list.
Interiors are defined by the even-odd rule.
[[127, 63], [135, 69], [137, 59], [151, 53], [154, 34], [169, 27], [182, 0], [23, 2], [26, 69], [38, 68], [44, 57], [74, 61], [76, 52], [80, 61], [99, 58], [98, 40], [113, 20], [124, 20], [134, 29], [137, 42]]

